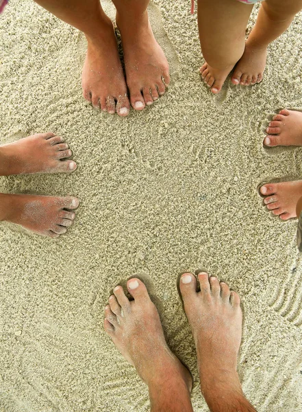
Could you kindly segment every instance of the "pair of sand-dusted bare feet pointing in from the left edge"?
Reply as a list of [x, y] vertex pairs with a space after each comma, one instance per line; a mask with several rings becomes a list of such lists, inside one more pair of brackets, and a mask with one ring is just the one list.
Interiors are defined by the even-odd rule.
[[[54, 133], [40, 133], [0, 146], [0, 176], [69, 173], [77, 168], [72, 152]], [[58, 238], [73, 225], [79, 200], [73, 196], [0, 194], [0, 220]]]

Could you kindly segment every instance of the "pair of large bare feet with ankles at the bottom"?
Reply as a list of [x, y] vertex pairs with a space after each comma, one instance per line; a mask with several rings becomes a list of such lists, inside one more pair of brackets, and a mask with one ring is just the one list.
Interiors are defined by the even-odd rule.
[[[255, 411], [236, 371], [242, 334], [240, 298], [207, 273], [181, 276], [179, 288], [197, 350], [201, 392], [211, 411]], [[140, 279], [121, 286], [105, 306], [104, 328], [149, 387], [151, 411], [192, 411], [192, 377], [166, 344], [162, 324]], [[226, 350], [227, 348], [227, 350]]]

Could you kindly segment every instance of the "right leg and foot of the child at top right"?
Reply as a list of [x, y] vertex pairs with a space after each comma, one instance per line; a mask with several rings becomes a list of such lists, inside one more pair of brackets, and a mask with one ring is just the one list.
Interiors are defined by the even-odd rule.
[[234, 84], [259, 83], [266, 64], [268, 45], [286, 31], [294, 15], [302, 8], [301, 0], [266, 0], [262, 2], [257, 22], [247, 39], [231, 81]]

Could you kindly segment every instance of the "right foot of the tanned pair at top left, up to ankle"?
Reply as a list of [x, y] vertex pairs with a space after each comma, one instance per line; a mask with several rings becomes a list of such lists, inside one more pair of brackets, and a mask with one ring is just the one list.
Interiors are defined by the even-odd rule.
[[117, 13], [116, 24], [121, 32], [131, 106], [140, 111], [164, 94], [170, 82], [168, 61], [155, 40], [147, 12], [135, 20]]

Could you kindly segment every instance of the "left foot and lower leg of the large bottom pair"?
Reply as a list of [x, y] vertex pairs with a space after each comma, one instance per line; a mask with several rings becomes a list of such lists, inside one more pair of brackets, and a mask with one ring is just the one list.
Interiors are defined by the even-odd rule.
[[105, 307], [104, 327], [149, 387], [151, 411], [192, 412], [192, 378], [166, 345], [160, 317], [139, 279], [127, 282], [134, 301], [116, 286]]

